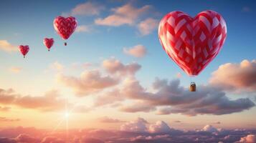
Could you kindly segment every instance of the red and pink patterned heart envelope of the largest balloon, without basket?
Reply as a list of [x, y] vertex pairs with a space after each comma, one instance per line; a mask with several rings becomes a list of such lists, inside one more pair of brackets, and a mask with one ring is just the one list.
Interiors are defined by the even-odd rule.
[[222, 49], [226, 22], [215, 11], [196, 17], [172, 11], [161, 19], [158, 36], [166, 53], [190, 76], [198, 75]]

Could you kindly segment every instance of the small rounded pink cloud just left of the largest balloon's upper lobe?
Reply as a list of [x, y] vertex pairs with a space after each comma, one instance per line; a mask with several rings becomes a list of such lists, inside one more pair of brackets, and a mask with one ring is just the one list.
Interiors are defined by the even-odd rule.
[[138, 24], [138, 31], [140, 31], [142, 36], [151, 34], [153, 31], [155, 31], [158, 27], [159, 21], [156, 19], [148, 18], [144, 21], [141, 21]]

